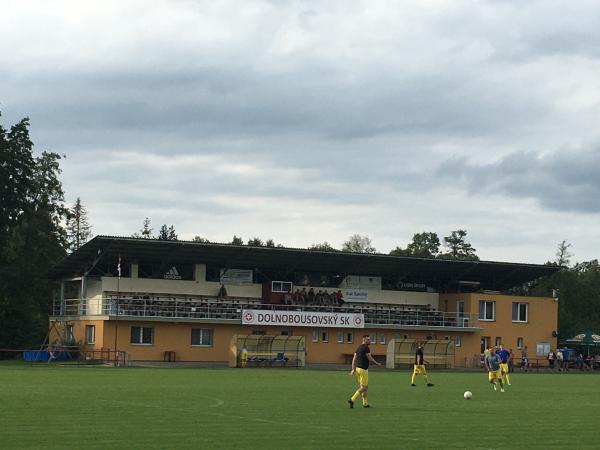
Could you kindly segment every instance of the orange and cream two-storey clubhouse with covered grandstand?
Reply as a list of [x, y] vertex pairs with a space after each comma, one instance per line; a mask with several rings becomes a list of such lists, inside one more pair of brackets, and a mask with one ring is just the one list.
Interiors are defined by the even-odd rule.
[[283, 358], [293, 344], [304, 365], [347, 363], [369, 334], [388, 367], [408, 363], [416, 341], [443, 347], [451, 367], [475, 367], [497, 344], [545, 358], [557, 345], [558, 299], [514, 293], [556, 270], [96, 236], [51, 271], [60, 291], [50, 341], [94, 359], [230, 365], [241, 347], [275, 341], [283, 347], [264, 353]]

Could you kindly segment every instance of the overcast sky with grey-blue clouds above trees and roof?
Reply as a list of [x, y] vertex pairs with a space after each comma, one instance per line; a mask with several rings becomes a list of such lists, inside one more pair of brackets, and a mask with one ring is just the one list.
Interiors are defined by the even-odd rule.
[[8, 1], [0, 111], [94, 234], [600, 257], [596, 1]]

